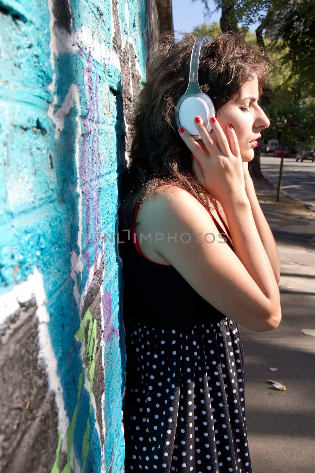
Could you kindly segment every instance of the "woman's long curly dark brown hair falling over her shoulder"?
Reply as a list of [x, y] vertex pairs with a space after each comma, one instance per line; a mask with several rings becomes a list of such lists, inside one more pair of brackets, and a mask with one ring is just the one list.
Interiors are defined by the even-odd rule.
[[[164, 33], [151, 55], [132, 123], [129, 166], [122, 180], [120, 228], [130, 228], [136, 203], [152, 195], [162, 182], [179, 185], [212, 210], [210, 202], [215, 201], [198, 183], [191, 168], [191, 152], [175, 122], [176, 104], [188, 85], [196, 37], [186, 34], [175, 43], [174, 35]], [[224, 33], [213, 39], [200, 58], [199, 86], [219, 110], [227, 101], [240, 98], [242, 84], [253, 73], [261, 95], [271, 67], [272, 58], [264, 49], [248, 44], [241, 33]]]

